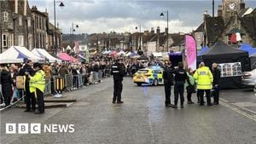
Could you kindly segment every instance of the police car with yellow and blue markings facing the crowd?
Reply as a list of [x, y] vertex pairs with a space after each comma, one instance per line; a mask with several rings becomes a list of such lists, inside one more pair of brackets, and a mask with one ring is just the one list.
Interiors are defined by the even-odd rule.
[[163, 69], [160, 66], [150, 66], [138, 70], [133, 76], [133, 82], [138, 86], [142, 84], [164, 84]]

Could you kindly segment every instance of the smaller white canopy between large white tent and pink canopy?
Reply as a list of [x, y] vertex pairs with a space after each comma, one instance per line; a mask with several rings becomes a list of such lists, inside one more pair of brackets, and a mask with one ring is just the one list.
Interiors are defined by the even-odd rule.
[[49, 62], [61, 62], [60, 59], [57, 59], [52, 55], [49, 55], [49, 53], [45, 49], [32, 49], [32, 53], [34, 55], [38, 55], [40, 57], [43, 57], [44, 59], [49, 60]]

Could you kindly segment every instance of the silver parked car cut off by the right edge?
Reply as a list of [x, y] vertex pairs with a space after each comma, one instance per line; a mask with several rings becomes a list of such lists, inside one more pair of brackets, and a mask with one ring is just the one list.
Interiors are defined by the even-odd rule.
[[255, 87], [256, 84], [256, 69], [250, 72], [243, 72], [241, 76], [241, 84], [247, 87]]

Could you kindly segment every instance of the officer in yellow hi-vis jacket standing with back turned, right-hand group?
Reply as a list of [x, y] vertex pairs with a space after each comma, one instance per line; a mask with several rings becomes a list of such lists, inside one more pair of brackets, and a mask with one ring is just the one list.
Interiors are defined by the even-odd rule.
[[204, 106], [204, 92], [207, 94], [207, 106], [212, 106], [210, 92], [212, 89], [212, 72], [209, 67], [201, 62], [201, 67], [198, 68], [193, 76], [197, 81], [197, 93], [200, 96], [200, 106]]

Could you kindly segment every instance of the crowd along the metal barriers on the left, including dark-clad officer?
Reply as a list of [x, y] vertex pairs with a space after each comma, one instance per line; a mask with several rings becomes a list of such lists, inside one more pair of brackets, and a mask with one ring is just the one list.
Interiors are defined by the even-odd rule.
[[[45, 72], [45, 77], [51, 79], [51, 94], [55, 95], [59, 91], [54, 88], [54, 77], [60, 76], [65, 78], [67, 75], [73, 77], [73, 88], [79, 88], [78, 75], [82, 76], [82, 85], [88, 86], [90, 84], [97, 84], [102, 82], [102, 78], [110, 77], [111, 66], [114, 63], [114, 59], [108, 57], [98, 56], [90, 62], [81, 64], [71, 63], [47, 63], [42, 64], [42, 70]], [[138, 69], [149, 65], [148, 60], [134, 61], [128, 58], [123, 58], [121, 63], [124, 66], [124, 76], [131, 77]], [[26, 72], [28, 72], [26, 74]], [[14, 103], [20, 99], [23, 95], [25, 96], [24, 101], [26, 102], [26, 111], [34, 111], [35, 109], [35, 98], [29, 93], [29, 79], [28, 74], [33, 76], [35, 71], [33, 69], [32, 60], [26, 60], [24, 64], [6, 64], [0, 65], [0, 96], [1, 96], [1, 107], [9, 107], [11, 103]], [[24, 85], [17, 87], [17, 77], [24, 78]], [[64, 88], [65, 89], [65, 88]], [[61, 91], [60, 91], [61, 92]], [[30, 101], [28, 101], [29, 99]]]

